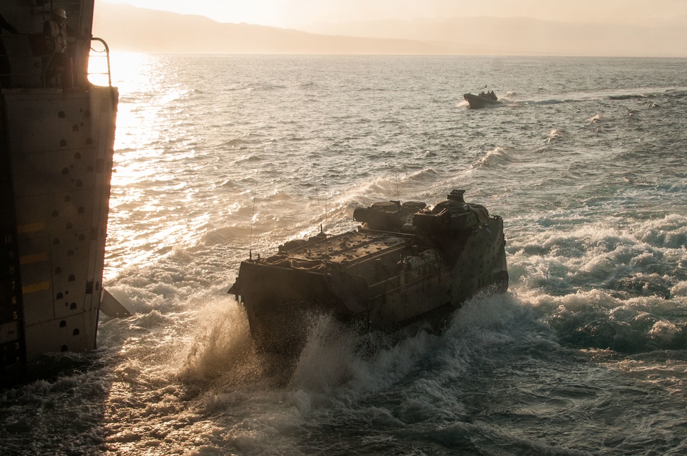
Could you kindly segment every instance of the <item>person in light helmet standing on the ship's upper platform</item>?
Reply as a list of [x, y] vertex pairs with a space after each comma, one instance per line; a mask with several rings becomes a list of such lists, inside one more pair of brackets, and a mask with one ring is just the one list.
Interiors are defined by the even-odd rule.
[[45, 34], [47, 52], [50, 56], [47, 65], [61, 73], [63, 89], [72, 89], [74, 87], [74, 52], [67, 47], [67, 34], [74, 36], [77, 41], [83, 40], [83, 36], [69, 27], [66, 21], [67, 12], [63, 8], [57, 8], [52, 12], [52, 18], [43, 24], [43, 34]]

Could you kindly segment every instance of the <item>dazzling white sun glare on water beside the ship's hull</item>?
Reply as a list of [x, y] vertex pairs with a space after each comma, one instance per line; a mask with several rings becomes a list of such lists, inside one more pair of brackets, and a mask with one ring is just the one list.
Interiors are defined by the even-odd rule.
[[[119, 103], [106, 275], [117, 267], [146, 264], [175, 246], [193, 242], [198, 226], [206, 223], [204, 214], [182, 218], [179, 223], [175, 217], [178, 214], [169, 209], [169, 200], [176, 201], [176, 195], [188, 193], [188, 189], [168, 162], [193, 155], [193, 150], [169, 146], [166, 137], [176, 133], [168, 131], [166, 109], [183, 89], [166, 84], [166, 89], [160, 90], [167, 73], [160, 68], [157, 56], [113, 53], [109, 60]], [[96, 85], [109, 84], [107, 58], [102, 54], [91, 52], [89, 80]]]

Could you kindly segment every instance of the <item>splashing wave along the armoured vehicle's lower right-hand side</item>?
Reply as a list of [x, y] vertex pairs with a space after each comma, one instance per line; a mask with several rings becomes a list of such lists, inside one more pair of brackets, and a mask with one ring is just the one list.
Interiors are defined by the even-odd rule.
[[[524, 323], [524, 324], [523, 324]], [[329, 317], [312, 322], [290, 389], [365, 396], [433, 367], [463, 374], [494, 341], [518, 337], [534, 324], [511, 295], [483, 293], [454, 312], [443, 330], [418, 322], [393, 333], [360, 332]], [[445, 372], [447, 374], [448, 372]], [[334, 391], [333, 391], [334, 389]]]

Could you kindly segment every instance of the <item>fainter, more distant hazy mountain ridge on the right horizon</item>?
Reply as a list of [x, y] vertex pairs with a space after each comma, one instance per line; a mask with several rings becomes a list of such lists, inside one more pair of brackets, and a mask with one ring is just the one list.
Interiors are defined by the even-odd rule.
[[529, 17], [452, 17], [313, 23], [303, 30], [420, 39], [496, 50], [507, 55], [687, 57], [687, 30], [678, 24], [569, 23]]

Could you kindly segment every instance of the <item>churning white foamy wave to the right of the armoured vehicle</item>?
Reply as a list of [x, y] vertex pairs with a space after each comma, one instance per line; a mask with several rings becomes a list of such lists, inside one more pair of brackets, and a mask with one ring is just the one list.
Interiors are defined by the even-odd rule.
[[557, 219], [538, 234], [523, 227], [525, 242], [512, 227], [512, 288], [566, 344], [623, 353], [684, 350], [686, 225], [679, 214], [625, 226], [620, 219]]

